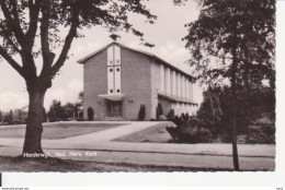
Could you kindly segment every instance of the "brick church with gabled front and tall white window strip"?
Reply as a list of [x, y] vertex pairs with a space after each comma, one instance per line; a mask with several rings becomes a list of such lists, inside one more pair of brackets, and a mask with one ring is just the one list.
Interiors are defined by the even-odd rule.
[[78, 62], [84, 68], [84, 119], [91, 107], [94, 120], [138, 120], [145, 105], [150, 120], [159, 103], [163, 115], [196, 112], [195, 79], [152, 54], [114, 41]]

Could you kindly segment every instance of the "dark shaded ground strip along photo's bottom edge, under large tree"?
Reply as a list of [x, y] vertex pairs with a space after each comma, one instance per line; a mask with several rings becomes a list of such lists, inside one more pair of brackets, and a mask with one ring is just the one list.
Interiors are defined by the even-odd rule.
[[[1, 171], [61, 171], [61, 173], [111, 173], [111, 171], [216, 171], [210, 168], [168, 167], [151, 165], [134, 165], [125, 163], [104, 164], [96, 162], [70, 161], [59, 158], [22, 158], [0, 156]], [[219, 169], [220, 170], [220, 169]]]

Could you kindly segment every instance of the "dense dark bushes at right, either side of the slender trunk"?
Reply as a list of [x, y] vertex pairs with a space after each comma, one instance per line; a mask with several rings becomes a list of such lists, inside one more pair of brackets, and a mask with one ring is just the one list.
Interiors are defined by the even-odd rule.
[[[197, 111], [197, 119], [215, 135], [230, 134], [230, 94], [229, 87], [208, 88], [204, 93], [204, 102]], [[237, 111], [238, 134], [247, 134], [249, 126], [253, 124], [263, 114], [267, 114], [271, 120], [275, 120], [275, 91], [264, 86], [246, 91], [240, 86], [237, 90], [235, 109]], [[226, 139], [231, 138], [227, 136]]]

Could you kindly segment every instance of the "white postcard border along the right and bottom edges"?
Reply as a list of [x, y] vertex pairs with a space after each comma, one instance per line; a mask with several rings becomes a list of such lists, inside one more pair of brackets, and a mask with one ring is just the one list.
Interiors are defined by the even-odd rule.
[[[100, 187], [183, 187], [183, 186], [284, 186], [284, 106], [285, 105], [285, 1], [277, 1], [276, 31], [276, 170], [269, 173], [4, 173], [3, 187], [100, 186]], [[33, 188], [31, 188], [33, 189]], [[61, 188], [60, 188], [61, 189]], [[70, 188], [68, 188], [70, 189]], [[71, 188], [72, 189], [72, 188]], [[117, 189], [117, 188], [116, 188]], [[125, 189], [125, 188], [124, 188]], [[168, 189], [168, 188], [163, 188]], [[184, 189], [184, 188], [183, 188]], [[204, 188], [203, 188], [204, 189]], [[215, 189], [215, 188], [213, 188]], [[220, 189], [220, 188], [219, 188]], [[252, 189], [252, 188], [251, 188]], [[259, 188], [263, 189], [263, 188]], [[265, 189], [265, 188], [264, 188]], [[269, 189], [269, 188], [266, 188]], [[271, 188], [273, 189], [273, 188]], [[274, 188], [275, 189], [275, 188]]]

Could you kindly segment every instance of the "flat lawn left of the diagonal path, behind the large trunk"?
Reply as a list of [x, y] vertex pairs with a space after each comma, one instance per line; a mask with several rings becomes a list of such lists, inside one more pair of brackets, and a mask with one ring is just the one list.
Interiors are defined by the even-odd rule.
[[[80, 126], [79, 126], [80, 124]], [[45, 124], [43, 139], [65, 139], [124, 126], [121, 123], [56, 123]], [[25, 128], [0, 128], [0, 138], [24, 138]]]

